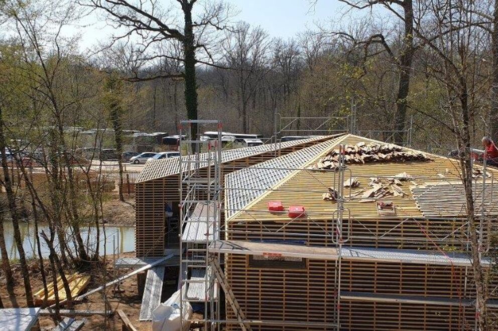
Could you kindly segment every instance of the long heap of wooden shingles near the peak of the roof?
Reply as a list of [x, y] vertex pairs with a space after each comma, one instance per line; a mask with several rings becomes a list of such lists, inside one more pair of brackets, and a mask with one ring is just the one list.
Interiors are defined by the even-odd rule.
[[[424, 153], [401, 148], [393, 144], [365, 144], [344, 146], [345, 163], [430, 161]], [[336, 170], [339, 151], [332, 150], [314, 166], [314, 169]]]

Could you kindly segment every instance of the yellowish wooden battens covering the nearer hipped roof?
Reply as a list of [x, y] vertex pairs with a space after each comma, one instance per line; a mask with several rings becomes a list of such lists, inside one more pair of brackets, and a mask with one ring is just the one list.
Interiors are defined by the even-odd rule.
[[[330, 142], [330, 141], [329, 141]], [[339, 144], [355, 144], [357, 142], [363, 143], [375, 143], [375, 144], [386, 144], [385, 142], [380, 142], [376, 140], [371, 140], [363, 137], [354, 136], [351, 134], [346, 134], [342, 137], [334, 139], [333, 143], [328, 146], [328, 148], [323, 153], [317, 153], [313, 157], [307, 160], [304, 164], [293, 164], [291, 167], [285, 166], [282, 161], [282, 157], [270, 160], [274, 162], [273, 171], [265, 171], [263, 168], [270, 164], [270, 161], [263, 162], [259, 165], [248, 167], [236, 172], [233, 172], [226, 176], [225, 185], [230, 185], [225, 193], [225, 209], [226, 209], [226, 219], [227, 222], [252, 222], [252, 221], [282, 221], [287, 218], [284, 213], [269, 213], [266, 208], [266, 201], [270, 200], [280, 200], [284, 204], [299, 203], [306, 205], [307, 215], [313, 217], [313, 219], [329, 219], [334, 213], [333, 202], [322, 201], [321, 193], [326, 192], [327, 186], [323, 185], [327, 182], [327, 172], [314, 171], [312, 169], [307, 169], [310, 164], [318, 162], [325, 153], [334, 149]], [[319, 145], [325, 144], [321, 143]], [[316, 145], [316, 146], [319, 146]], [[316, 147], [315, 146], [315, 147]], [[400, 146], [401, 147], [401, 146]], [[401, 147], [405, 150], [412, 151], [414, 153], [424, 153], [431, 158], [431, 161], [409, 161], [409, 162], [374, 162], [365, 164], [348, 164], [348, 168], [351, 170], [351, 177], [358, 177], [362, 181], [362, 187], [366, 187], [369, 177], [379, 177], [379, 178], [392, 178], [397, 173], [407, 172], [410, 174], [412, 172], [412, 180], [403, 183], [403, 190], [406, 193], [403, 197], [392, 197], [388, 196], [381, 198], [381, 200], [395, 200], [395, 205], [397, 208], [397, 214], [394, 216], [379, 215], [375, 206], [375, 203], [363, 203], [359, 201], [360, 198], [347, 199], [345, 207], [351, 210], [351, 217], [353, 219], [428, 219], [428, 218], [443, 218], [457, 219], [465, 218], [465, 212], [462, 208], [457, 210], [455, 207], [460, 201], [453, 201], [452, 205], [449, 206], [448, 210], [445, 212], [436, 212], [434, 209], [438, 208], [437, 202], [439, 199], [432, 199], [427, 202], [427, 200], [421, 199], [423, 197], [423, 192], [426, 185], [434, 182], [439, 182], [440, 184], [455, 185], [455, 182], [459, 178], [459, 170], [456, 164], [456, 160], [450, 159], [444, 156], [438, 156], [430, 153], [425, 153], [423, 151], [418, 151], [406, 147]], [[301, 152], [301, 151], [300, 151]], [[289, 154], [289, 157], [294, 152]], [[283, 170], [278, 170], [278, 162], [280, 165], [285, 167]], [[276, 165], [277, 164], [277, 165]], [[289, 169], [294, 167], [295, 171], [289, 174]], [[475, 165], [479, 168], [479, 165]], [[252, 171], [251, 171], [252, 169]], [[491, 178], [489, 181], [493, 181], [494, 173], [498, 174], [495, 169], [488, 168], [489, 173], [491, 173]], [[262, 187], [260, 190], [253, 190], [252, 186], [247, 188], [246, 177], [247, 173], [256, 172], [257, 181], [260, 183], [269, 182], [271, 185], [266, 185], [266, 189]], [[328, 171], [330, 172], [330, 170]], [[329, 175], [330, 176], [330, 175]], [[275, 182], [277, 178], [277, 182]], [[316, 182], [314, 182], [316, 180]], [[254, 181], [254, 180], [253, 180]], [[330, 180], [328, 180], [330, 183]], [[237, 186], [238, 185], [238, 186]], [[253, 184], [251, 184], [253, 185]], [[460, 184], [461, 185], [461, 184]], [[255, 186], [255, 185], [253, 185]], [[264, 185], [260, 185], [264, 186]], [[481, 185], [482, 186], [482, 185]], [[498, 185], [486, 184], [487, 187], [492, 188], [492, 192], [498, 194]], [[239, 192], [233, 189], [239, 188]], [[249, 193], [241, 193], [244, 190], [252, 190]], [[321, 190], [321, 191], [320, 191]], [[321, 192], [321, 193], [317, 193]], [[303, 196], [303, 193], [308, 193]], [[494, 195], [494, 194], [493, 194]], [[237, 199], [240, 200], [239, 196], [250, 196], [251, 199], [241, 203], [237, 203]], [[304, 198], [304, 199], [303, 199]], [[294, 201], [292, 201], [294, 200]], [[478, 199], [479, 200], [479, 199]], [[425, 202], [425, 205], [424, 205]], [[478, 201], [479, 202], [479, 201]], [[485, 203], [488, 206], [485, 208], [486, 212], [492, 211], [491, 214], [498, 215], [498, 205], [491, 205], [490, 198], [485, 199]], [[459, 204], [460, 205], [460, 204]], [[477, 203], [478, 205], [478, 203]], [[443, 206], [444, 207], [444, 206]], [[450, 208], [451, 207], [451, 208]], [[425, 209], [424, 209], [425, 208]], [[462, 211], [463, 210], [463, 211]], [[476, 209], [477, 212], [478, 209]], [[456, 212], [459, 211], [459, 212]], [[254, 213], [254, 215], [252, 215]]]

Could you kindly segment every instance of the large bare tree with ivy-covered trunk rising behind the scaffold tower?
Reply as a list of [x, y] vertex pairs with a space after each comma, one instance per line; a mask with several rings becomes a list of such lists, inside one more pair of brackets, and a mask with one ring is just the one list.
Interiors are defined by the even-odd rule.
[[[145, 60], [169, 58], [180, 60], [183, 63], [181, 72], [160, 73], [147, 77], [137, 77], [137, 80], [151, 80], [156, 78], [183, 78], [185, 107], [188, 118], [197, 120], [197, 83], [196, 65], [214, 65], [215, 59], [209, 51], [213, 44], [213, 31], [225, 29], [228, 19], [228, 6], [223, 3], [207, 3], [201, 9], [201, 14], [194, 17], [194, 7], [197, 0], [177, 0], [177, 7], [164, 10], [155, 0], [145, 1], [110, 1], [88, 0], [81, 2], [84, 6], [97, 9], [105, 13], [109, 23], [116, 28], [125, 28], [122, 36], [115, 36], [114, 40], [121, 40], [131, 36], [140, 39], [141, 54]], [[181, 13], [178, 13], [179, 12]], [[178, 16], [182, 16], [183, 24], [177, 24]], [[179, 43], [182, 45], [182, 57], [175, 54], [158, 53], [158, 45]], [[156, 49], [154, 49], [156, 47]], [[197, 134], [197, 126], [191, 127], [193, 136]]]

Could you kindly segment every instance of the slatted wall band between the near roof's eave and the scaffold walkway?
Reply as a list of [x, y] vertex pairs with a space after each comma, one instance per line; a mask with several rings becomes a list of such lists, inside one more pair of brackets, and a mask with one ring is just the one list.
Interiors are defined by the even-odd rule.
[[[287, 220], [289, 221], [290, 219]], [[348, 226], [351, 227], [350, 238], [345, 245], [433, 250], [437, 249], [434, 242], [439, 238], [441, 241], [438, 244], [445, 245], [447, 248], [465, 249], [466, 227], [462, 227], [463, 221], [409, 219], [403, 224], [400, 222], [399, 219], [377, 219], [352, 220], [351, 223], [344, 223], [343, 231], [346, 231]], [[229, 238], [259, 241], [264, 239], [302, 240], [314, 246], [334, 245], [331, 240], [335, 224], [333, 221], [306, 218], [295, 220], [281, 229], [285, 224], [272, 221], [258, 222], [257, 218], [249, 222], [230, 222]], [[454, 234], [447, 236], [451, 232]], [[329, 235], [326, 235], [327, 233]], [[446, 236], [447, 238], [442, 241]], [[486, 237], [486, 232], [484, 232], [484, 238]]]

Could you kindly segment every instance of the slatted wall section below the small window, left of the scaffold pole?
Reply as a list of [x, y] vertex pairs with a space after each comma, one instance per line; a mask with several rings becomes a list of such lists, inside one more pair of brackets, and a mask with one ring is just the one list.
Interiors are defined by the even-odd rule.
[[[247, 268], [243, 255], [226, 259], [228, 283], [247, 319], [334, 321], [335, 261], [310, 260], [307, 270], [265, 270]], [[226, 313], [235, 318], [230, 308]]]

